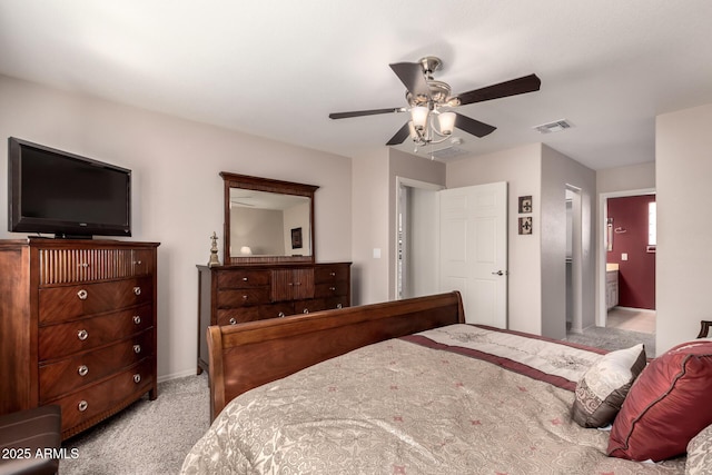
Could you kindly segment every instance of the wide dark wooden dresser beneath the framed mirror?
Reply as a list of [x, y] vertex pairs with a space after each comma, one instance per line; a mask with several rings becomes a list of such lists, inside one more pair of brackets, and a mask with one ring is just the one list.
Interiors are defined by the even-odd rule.
[[350, 263], [198, 266], [198, 373], [209, 325], [348, 307], [350, 287]]

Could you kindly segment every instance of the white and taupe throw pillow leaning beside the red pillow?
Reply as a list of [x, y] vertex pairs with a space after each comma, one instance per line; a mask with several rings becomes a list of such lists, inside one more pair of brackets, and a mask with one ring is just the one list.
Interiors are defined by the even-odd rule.
[[582, 427], [611, 424], [645, 364], [643, 345], [611, 352], [601, 358], [576, 385], [573, 419]]

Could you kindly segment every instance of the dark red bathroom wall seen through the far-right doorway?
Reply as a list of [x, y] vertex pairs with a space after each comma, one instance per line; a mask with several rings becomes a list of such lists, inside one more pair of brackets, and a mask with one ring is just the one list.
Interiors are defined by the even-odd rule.
[[[607, 263], [619, 265], [619, 305], [655, 309], [655, 253], [647, 253], [647, 204], [655, 195], [609, 198], [609, 218], [613, 218], [613, 250]], [[627, 253], [627, 260], [621, 255]]]

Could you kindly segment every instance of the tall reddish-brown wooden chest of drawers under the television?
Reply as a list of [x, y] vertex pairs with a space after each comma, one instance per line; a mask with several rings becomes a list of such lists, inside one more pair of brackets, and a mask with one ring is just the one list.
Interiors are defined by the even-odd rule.
[[57, 404], [67, 438], [157, 397], [157, 247], [0, 241], [0, 414]]

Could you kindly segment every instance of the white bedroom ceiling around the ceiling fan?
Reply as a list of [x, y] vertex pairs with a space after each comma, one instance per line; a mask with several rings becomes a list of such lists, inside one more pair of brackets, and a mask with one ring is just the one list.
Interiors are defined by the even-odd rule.
[[388, 65], [433, 55], [454, 92], [542, 79], [461, 107], [497, 130], [459, 148], [601, 169], [654, 160], [654, 117], [712, 102], [710, 23], [709, 0], [2, 0], [0, 73], [353, 156], [406, 117], [328, 113], [405, 106]]

